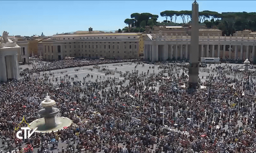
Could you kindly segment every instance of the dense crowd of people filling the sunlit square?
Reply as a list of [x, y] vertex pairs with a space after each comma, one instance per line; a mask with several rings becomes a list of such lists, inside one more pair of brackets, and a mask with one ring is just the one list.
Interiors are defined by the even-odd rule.
[[[29, 72], [93, 63], [102, 64], [98, 60], [66, 60], [34, 66]], [[137, 67], [142, 64], [137, 62]], [[47, 77], [25, 76], [2, 83], [0, 135], [8, 148], [5, 151], [22, 151], [20, 146], [26, 143], [34, 151], [39, 147], [38, 153], [50, 153], [57, 142], [65, 141], [68, 146], [59, 148], [61, 153], [254, 153], [254, 73], [248, 80], [238, 66], [215, 65], [206, 76], [210, 88], [192, 91], [181, 87], [186, 79], [174, 73], [180, 67], [158, 63], [152, 69], [161, 71], [153, 75], [149, 71], [126, 71], [120, 74], [122, 79], [105, 76], [105, 81], [97, 82], [80, 82], [76, 77], [71, 81], [65, 76], [61, 83], [53, 84]], [[126, 80], [129, 84], [124, 86]], [[56, 101], [60, 116], [70, 118], [73, 124], [18, 140], [15, 128], [23, 116], [40, 117], [38, 111], [46, 93]]]

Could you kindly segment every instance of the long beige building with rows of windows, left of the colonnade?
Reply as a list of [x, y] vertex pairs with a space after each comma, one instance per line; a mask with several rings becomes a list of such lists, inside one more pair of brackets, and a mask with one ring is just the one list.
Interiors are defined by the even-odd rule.
[[[77, 31], [76, 34], [55, 35], [41, 41], [46, 60], [65, 57], [129, 59], [143, 53], [139, 43], [142, 33], [104, 33], [102, 31]], [[142, 40], [143, 41], [143, 40]]]

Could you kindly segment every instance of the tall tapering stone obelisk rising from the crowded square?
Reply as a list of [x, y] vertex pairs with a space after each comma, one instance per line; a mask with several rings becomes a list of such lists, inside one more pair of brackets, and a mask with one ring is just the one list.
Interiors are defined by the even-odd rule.
[[192, 4], [190, 58], [188, 69], [188, 88], [197, 88], [198, 85], [198, 60], [199, 60], [199, 20], [198, 3]]

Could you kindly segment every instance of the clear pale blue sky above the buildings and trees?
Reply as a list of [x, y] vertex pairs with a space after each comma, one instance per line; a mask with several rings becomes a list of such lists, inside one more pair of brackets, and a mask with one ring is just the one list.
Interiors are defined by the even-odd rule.
[[[71, 31], [117, 30], [127, 26], [124, 19], [132, 13], [157, 14], [158, 21], [165, 10], [191, 10], [194, 0], [87, 0], [87, 1], [0, 1], [0, 35], [51, 36]], [[256, 1], [241, 0], [198, 0], [199, 11], [256, 12]], [[169, 18], [170, 19], [170, 18]], [[178, 18], [180, 19], [180, 18]], [[177, 20], [178, 20], [177, 19]], [[178, 20], [181, 22], [181, 20]]]

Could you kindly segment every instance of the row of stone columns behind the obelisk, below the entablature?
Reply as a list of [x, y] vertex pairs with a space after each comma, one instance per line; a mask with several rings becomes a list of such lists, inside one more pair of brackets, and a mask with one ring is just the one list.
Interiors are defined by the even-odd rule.
[[[144, 59], [151, 62], [165, 61], [174, 59], [189, 59], [190, 44], [157, 44], [153, 41], [152, 44], [144, 45]], [[232, 45], [232, 44], [200, 44], [200, 57], [220, 57], [222, 59], [246, 59], [256, 60], [255, 45]]]

